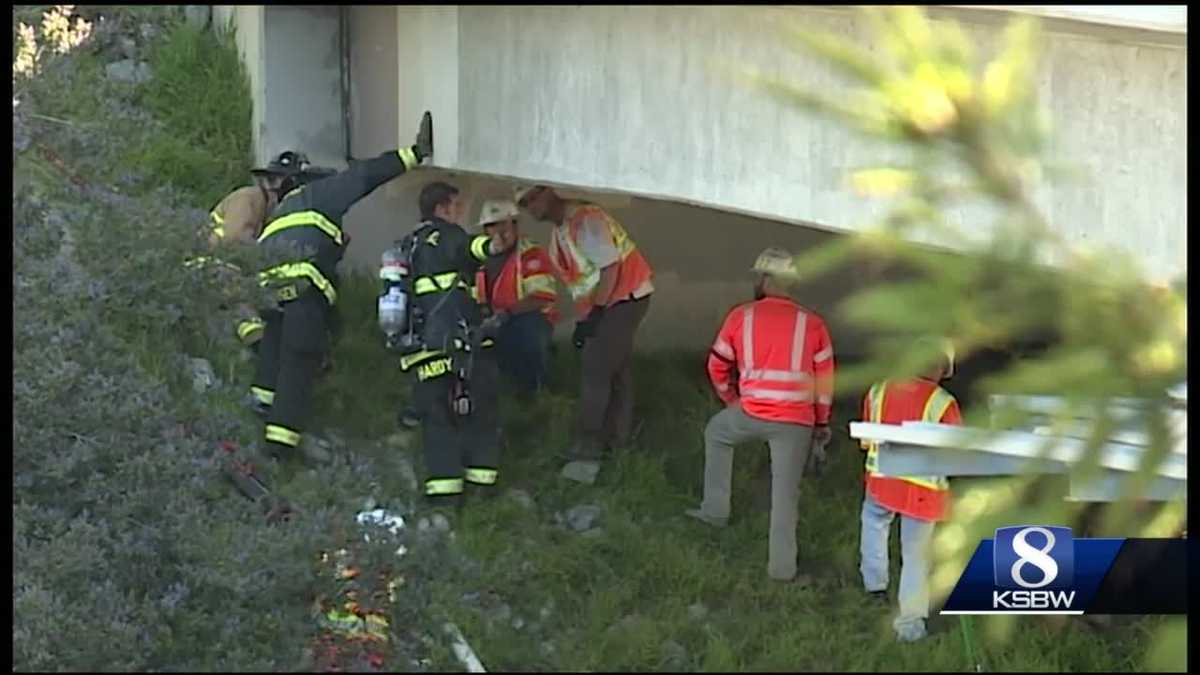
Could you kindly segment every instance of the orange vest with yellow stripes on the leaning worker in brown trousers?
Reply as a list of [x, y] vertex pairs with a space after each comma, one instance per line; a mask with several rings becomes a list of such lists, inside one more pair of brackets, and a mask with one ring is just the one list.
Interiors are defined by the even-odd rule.
[[601, 219], [608, 227], [612, 243], [620, 255], [617, 286], [608, 305], [622, 300], [636, 300], [654, 291], [650, 283], [650, 264], [634, 245], [625, 228], [607, 211], [595, 204], [568, 202], [563, 222], [554, 227], [551, 237], [551, 262], [575, 301], [578, 316], [586, 316], [593, 303], [592, 293], [600, 282], [600, 268], [580, 250], [580, 232], [588, 219]]

